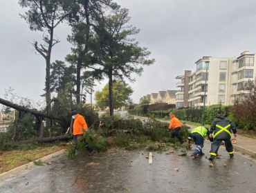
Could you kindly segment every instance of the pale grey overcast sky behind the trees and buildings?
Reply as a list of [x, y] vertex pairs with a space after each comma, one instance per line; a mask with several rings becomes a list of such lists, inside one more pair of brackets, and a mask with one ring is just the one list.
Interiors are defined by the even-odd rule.
[[[156, 63], [144, 68], [143, 75], [129, 83], [132, 99], [159, 90], [176, 90], [176, 76], [196, 70], [195, 61], [203, 56], [235, 57], [244, 50], [256, 52], [255, 0], [117, 0], [129, 9], [131, 24], [140, 28], [136, 40], [152, 52]], [[32, 32], [19, 13], [24, 9], [15, 0], [0, 6], [0, 97], [12, 87], [19, 96], [42, 99], [46, 64], [30, 44], [40, 41], [42, 32]], [[62, 24], [55, 31], [61, 40], [51, 61], [64, 61], [71, 52], [66, 41], [70, 29]], [[98, 84], [101, 90], [107, 81]], [[94, 96], [93, 96], [94, 98]]]

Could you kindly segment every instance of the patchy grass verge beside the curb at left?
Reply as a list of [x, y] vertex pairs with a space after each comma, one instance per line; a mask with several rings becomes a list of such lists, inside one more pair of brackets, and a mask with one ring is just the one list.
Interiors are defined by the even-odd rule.
[[[53, 148], [55, 147], [55, 148]], [[19, 167], [31, 161], [40, 159], [48, 154], [53, 154], [67, 147], [58, 143], [53, 144], [38, 144], [37, 147], [33, 146], [33, 149], [28, 150], [25, 145], [22, 145], [20, 150], [12, 150], [6, 152], [0, 152], [0, 174], [8, 172], [9, 170]], [[22, 150], [24, 149], [24, 150]]]

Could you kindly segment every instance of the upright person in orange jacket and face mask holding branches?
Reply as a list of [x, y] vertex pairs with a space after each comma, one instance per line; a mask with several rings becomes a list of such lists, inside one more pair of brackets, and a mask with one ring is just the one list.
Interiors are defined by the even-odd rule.
[[[74, 119], [74, 123], [73, 123], [73, 141], [77, 142], [77, 139], [79, 137], [82, 137], [82, 135], [84, 134], [84, 130], [87, 131], [87, 123], [84, 120], [84, 116], [80, 115], [77, 113], [76, 110], [73, 110], [71, 112], [72, 118]], [[94, 150], [93, 148], [90, 148], [89, 145], [85, 145], [86, 150], [88, 150], [89, 152], [91, 152], [89, 154], [89, 156], [93, 156], [94, 154]], [[75, 150], [77, 149], [77, 147], [74, 145], [74, 154], [75, 154]]]

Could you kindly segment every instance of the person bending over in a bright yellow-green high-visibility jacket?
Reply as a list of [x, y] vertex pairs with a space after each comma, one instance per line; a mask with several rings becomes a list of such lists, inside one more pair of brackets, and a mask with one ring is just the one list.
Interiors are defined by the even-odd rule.
[[198, 157], [203, 156], [203, 137], [208, 135], [208, 138], [210, 141], [212, 140], [212, 137], [210, 137], [210, 131], [208, 128], [205, 128], [203, 126], [199, 126], [197, 128], [194, 128], [188, 136], [188, 143], [190, 143], [191, 139], [194, 140], [194, 143], [196, 143], [196, 148], [192, 152], [190, 156]]

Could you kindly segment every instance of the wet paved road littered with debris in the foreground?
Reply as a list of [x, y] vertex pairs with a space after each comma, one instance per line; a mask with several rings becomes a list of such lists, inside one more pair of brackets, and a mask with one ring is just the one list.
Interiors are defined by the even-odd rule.
[[[194, 147], [193, 147], [194, 148]], [[170, 149], [172, 150], [172, 149]], [[209, 152], [210, 143], [203, 150]], [[153, 152], [153, 163], [144, 150], [109, 152], [88, 156], [78, 152], [75, 159], [60, 156], [52, 165], [35, 166], [0, 181], [0, 192], [255, 192], [256, 165], [235, 152], [229, 159], [220, 148], [220, 159]], [[208, 155], [206, 155], [208, 156]], [[131, 159], [133, 162], [131, 162]], [[224, 167], [224, 164], [227, 166]], [[178, 168], [179, 171], [176, 171]]]

